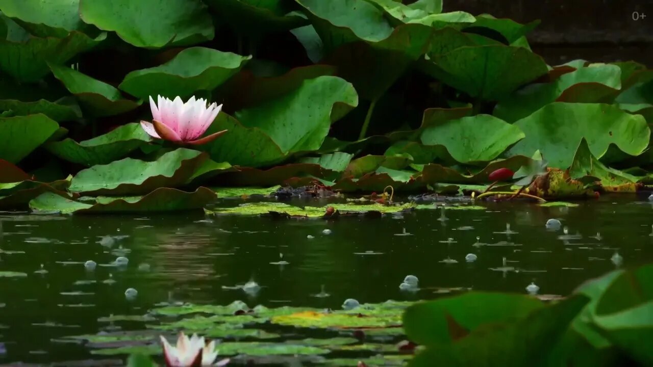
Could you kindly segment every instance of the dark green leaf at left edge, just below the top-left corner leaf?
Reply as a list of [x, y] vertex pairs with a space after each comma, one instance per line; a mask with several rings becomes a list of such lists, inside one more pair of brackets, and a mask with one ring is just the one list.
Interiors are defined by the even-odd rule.
[[91, 39], [72, 31], [63, 38], [29, 37], [25, 40], [0, 40], [0, 69], [22, 82], [36, 82], [50, 72], [48, 63], [65, 64], [72, 57], [90, 50], [106, 38], [101, 33]]

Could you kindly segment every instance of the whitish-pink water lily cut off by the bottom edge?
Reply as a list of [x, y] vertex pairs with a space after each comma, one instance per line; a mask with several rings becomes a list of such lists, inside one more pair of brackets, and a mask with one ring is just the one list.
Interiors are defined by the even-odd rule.
[[204, 336], [193, 334], [190, 338], [181, 332], [177, 339], [176, 347], [168, 343], [168, 340], [160, 336], [163, 343], [163, 355], [167, 367], [204, 367], [204, 366], [226, 366], [229, 359], [223, 359], [213, 364], [217, 358], [215, 342], [206, 344]]

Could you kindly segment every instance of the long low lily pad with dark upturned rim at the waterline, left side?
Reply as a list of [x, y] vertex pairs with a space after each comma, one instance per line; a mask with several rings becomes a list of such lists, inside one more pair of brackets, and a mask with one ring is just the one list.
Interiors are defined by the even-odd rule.
[[98, 197], [93, 204], [43, 193], [29, 202], [29, 208], [61, 214], [174, 212], [200, 209], [215, 199], [215, 192], [206, 187], [193, 192], [161, 187], [142, 197]]

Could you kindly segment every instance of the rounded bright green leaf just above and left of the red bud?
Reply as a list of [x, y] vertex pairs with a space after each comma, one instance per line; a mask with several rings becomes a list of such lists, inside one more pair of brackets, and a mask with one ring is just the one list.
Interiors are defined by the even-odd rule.
[[450, 120], [422, 132], [422, 144], [441, 145], [459, 163], [489, 162], [524, 138], [516, 125], [490, 115]]

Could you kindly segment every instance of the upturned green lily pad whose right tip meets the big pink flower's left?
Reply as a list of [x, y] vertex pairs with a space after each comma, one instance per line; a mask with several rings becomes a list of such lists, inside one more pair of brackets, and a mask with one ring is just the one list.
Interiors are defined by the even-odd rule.
[[71, 138], [50, 142], [46, 149], [61, 159], [88, 167], [107, 165], [150, 142], [140, 123], [128, 123], [104, 135], [76, 142]]

